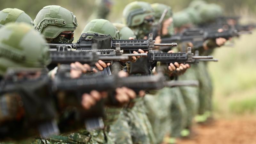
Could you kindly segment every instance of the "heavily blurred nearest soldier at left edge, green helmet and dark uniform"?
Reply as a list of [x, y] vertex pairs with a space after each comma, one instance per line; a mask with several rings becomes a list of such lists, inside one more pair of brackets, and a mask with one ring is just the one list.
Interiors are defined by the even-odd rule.
[[[51, 62], [49, 48], [45, 45], [44, 38], [31, 27], [30, 23], [8, 23], [0, 29], [0, 32], [4, 34], [4, 36], [0, 36], [0, 80], [6, 74], [8, 68], [43, 68]], [[31, 40], [32, 43], [30, 43]], [[24, 138], [24, 140], [17, 143], [29, 143], [28, 141], [31, 140], [27, 137], [37, 133], [24, 128], [24, 125], [29, 122], [27, 120], [33, 119], [29, 116], [31, 112], [30, 105], [28, 106], [27, 100], [24, 98], [26, 98], [24, 95], [21, 96], [17, 92], [1, 92], [0, 95], [0, 127], [2, 130], [13, 132], [11, 134], [14, 134], [14, 136], [19, 134], [18, 137]], [[28, 99], [36, 98], [32, 98], [30, 95]], [[20, 105], [21, 103], [23, 105]], [[5, 138], [8, 138], [8, 135]]]

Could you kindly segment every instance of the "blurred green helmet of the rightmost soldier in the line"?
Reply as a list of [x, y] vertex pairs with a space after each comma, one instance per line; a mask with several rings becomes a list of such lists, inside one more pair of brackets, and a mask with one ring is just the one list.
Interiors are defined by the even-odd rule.
[[207, 4], [199, 9], [199, 14], [203, 23], [211, 22], [222, 15], [222, 9], [217, 4]]

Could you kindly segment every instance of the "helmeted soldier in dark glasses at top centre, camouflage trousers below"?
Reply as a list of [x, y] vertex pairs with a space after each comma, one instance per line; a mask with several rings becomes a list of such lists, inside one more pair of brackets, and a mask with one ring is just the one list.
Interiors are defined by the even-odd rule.
[[[132, 15], [131, 13], [136, 12], [136, 9], [142, 10], [141, 13], [139, 15]], [[124, 24], [126, 24], [129, 28], [133, 30], [134, 34], [138, 39], [144, 38], [144, 36], [147, 35], [146, 31], [148, 31], [149, 27], [146, 27], [147, 24], [144, 25], [142, 23], [144, 22], [144, 18], [151, 14], [153, 14], [153, 10], [150, 7], [150, 4], [145, 2], [132, 2], [124, 8], [124, 12], [123, 12], [123, 17], [125, 18]], [[129, 15], [131, 16], [131, 19], [129, 19], [131, 21], [127, 21], [127, 18], [129, 17]], [[143, 58], [140, 58], [135, 63], [138, 62], [141, 64], [141, 60], [143, 61]], [[133, 63], [131, 63], [131, 65], [132, 64]], [[145, 66], [145, 65], [142, 63], [141, 66]], [[128, 72], [131, 72], [130, 68], [131, 67], [127, 68]], [[136, 73], [136, 72], [132, 74], [141, 75], [141, 73]], [[126, 107], [122, 110], [122, 113], [120, 114], [120, 117], [116, 122], [116, 124], [111, 126], [110, 136], [115, 140], [115, 143], [120, 143], [120, 144], [156, 143], [151, 124], [145, 112], [143, 98], [135, 99], [129, 105], [129, 107]]]

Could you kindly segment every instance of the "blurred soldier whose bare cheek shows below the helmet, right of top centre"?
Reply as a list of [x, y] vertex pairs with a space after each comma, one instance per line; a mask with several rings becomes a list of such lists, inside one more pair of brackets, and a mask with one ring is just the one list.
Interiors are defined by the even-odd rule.
[[[162, 27], [159, 30], [161, 37], [170, 37], [173, 35], [173, 20], [171, 7], [164, 4], [151, 4], [154, 9], [154, 17], [159, 21], [162, 13], [167, 9], [167, 13], [162, 22]], [[160, 63], [158, 65], [161, 65]], [[181, 64], [184, 69], [189, 65]], [[180, 68], [181, 68], [180, 67]], [[179, 68], [177, 68], [179, 69]], [[185, 71], [184, 71], [185, 72]], [[172, 75], [173, 77], [173, 75]], [[171, 77], [166, 73], [166, 79], [170, 80]], [[186, 109], [179, 88], [164, 88], [156, 93], [156, 96], [146, 95], [145, 103], [148, 110], [148, 118], [152, 124], [154, 133], [157, 138], [157, 143], [164, 140], [164, 136], [172, 133], [177, 133], [175, 127], [180, 127], [184, 123], [186, 116]], [[172, 117], [172, 115], [175, 117]], [[172, 131], [173, 128], [173, 131]], [[175, 129], [174, 129], [175, 128]], [[180, 130], [181, 131], [181, 130]], [[174, 136], [174, 134], [173, 134]], [[166, 139], [165, 139], [166, 140]], [[166, 140], [167, 141], [167, 140]], [[169, 141], [169, 140], [168, 140]]]

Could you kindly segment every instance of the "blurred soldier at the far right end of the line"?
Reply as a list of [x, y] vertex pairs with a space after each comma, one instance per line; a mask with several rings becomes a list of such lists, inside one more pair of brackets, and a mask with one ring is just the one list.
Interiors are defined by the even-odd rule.
[[[198, 8], [199, 15], [201, 17], [200, 24], [210, 24], [214, 22], [216, 18], [222, 15], [222, 9], [216, 4], [203, 4]], [[219, 32], [222, 32], [223, 29], [218, 29]], [[217, 38], [215, 40], [209, 39], [204, 42], [204, 46], [199, 49], [199, 53], [203, 55], [211, 54], [216, 47], [220, 47], [225, 44], [227, 40], [225, 38]], [[205, 82], [204, 87], [199, 91], [199, 116], [196, 117], [198, 122], [204, 122], [208, 117], [211, 116], [212, 111], [212, 81], [209, 76], [209, 72], [206, 67], [207, 62], [203, 62], [199, 65], [198, 75], [204, 76], [204, 79], [201, 81]]]

